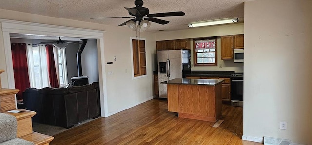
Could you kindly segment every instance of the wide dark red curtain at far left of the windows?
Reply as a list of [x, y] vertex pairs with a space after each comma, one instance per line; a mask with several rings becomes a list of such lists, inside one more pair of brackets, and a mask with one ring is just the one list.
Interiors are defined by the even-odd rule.
[[23, 99], [22, 92], [30, 87], [25, 43], [11, 43], [15, 88], [19, 89], [17, 100]]

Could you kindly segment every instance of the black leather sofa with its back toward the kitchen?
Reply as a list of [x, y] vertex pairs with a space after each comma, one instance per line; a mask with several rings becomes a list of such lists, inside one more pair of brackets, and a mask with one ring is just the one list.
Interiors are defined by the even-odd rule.
[[100, 116], [99, 83], [68, 88], [28, 88], [24, 106], [37, 112], [32, 121], [71, 128], [74, 124]]

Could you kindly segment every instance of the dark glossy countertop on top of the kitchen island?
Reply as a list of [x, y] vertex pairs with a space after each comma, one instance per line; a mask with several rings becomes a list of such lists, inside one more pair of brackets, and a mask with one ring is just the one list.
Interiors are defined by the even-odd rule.
[[161, 84], [188, 84], [188, 85], [212, 85], [222, 83], [223, 79], [188, 79], [175, 78], [169, 81], [161, 82]]

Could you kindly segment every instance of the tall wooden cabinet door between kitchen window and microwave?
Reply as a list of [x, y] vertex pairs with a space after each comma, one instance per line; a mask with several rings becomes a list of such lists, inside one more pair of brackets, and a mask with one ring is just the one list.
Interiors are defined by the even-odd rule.
[[233, 36], [221, 36], [221, 59], [233, 59]]

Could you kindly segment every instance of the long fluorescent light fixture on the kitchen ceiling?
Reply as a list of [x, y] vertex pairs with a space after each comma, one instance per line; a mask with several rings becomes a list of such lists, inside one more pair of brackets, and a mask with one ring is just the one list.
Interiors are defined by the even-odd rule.
[[219, 24], [236, 23], [236, 22], [238, 22], [238, 18], [228, 18], [228, 19], [194, 22], [194, 23], [189, 23], [188, 26], [189, 27], [201, 27], [201, 26], [219, 25]]

